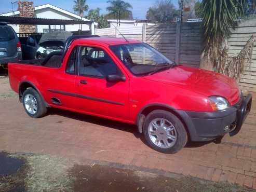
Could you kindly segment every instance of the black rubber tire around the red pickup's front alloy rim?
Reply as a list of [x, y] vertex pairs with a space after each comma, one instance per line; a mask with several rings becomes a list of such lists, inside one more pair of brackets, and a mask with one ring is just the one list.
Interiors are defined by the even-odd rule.
[[[150, 139], [150, 134], [149, 134], [149, 129], [150, 129], [150, 123], [152, 120], [157, 119], [157, 118], [164, 118], [171, 122], [171, 124], [175, 127], [176, 133], [177, 133], [177, 140], [176, 143], [171, 146], [170, 148], [161, 148], [158, 147], [153, 141]], [[157, 150], [158, 152], [161, 153], [166, 153], [166, 154], [175, 154], [179, 150], [181, 150], [187, 143], [187, 132], [182, 124], [181, 120], [173, 115], [170, 112], [164, 111], [164, 110], [155, 110], [151, 112], [149, 115], [146, 116], [144, 124], [143, 124], [143, 134], [145, 136], [145, 140], [147, 144]]]

